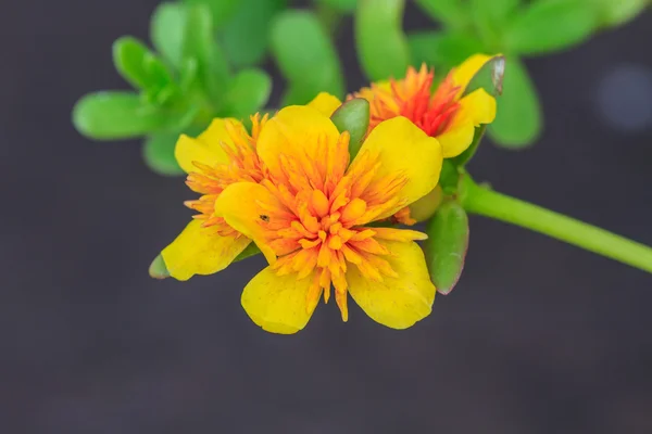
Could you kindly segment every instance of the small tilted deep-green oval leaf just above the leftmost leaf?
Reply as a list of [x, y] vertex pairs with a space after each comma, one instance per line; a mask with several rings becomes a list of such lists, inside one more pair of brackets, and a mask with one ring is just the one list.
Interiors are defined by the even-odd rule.
[[143, 43], [125, 36], [113, 42], [113, 63], [135, 88], [160, 89], [172, 81], [167, 67]]

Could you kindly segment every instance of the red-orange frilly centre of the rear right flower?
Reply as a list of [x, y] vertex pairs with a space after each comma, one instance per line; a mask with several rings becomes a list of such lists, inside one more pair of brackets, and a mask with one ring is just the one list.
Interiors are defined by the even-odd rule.
[[404, 116], [430, 137], [444, 132], [460, 108], [460, 87], [454, 86], [449, 76], [432, 93], [434, 77], [434, 71], [424, 64], [418, 73], [410, 67], [404, 79], [390, 80], [389, 88], [372, 85], [371, 128], [383, 120]]

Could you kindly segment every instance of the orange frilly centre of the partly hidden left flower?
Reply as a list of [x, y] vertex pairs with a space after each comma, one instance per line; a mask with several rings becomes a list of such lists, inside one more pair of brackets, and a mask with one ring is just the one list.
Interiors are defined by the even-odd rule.
[[201, 214], [192, 218], [203, 220], [203, 227], [215, 227], [216, 232], [223, 237], [240, 234], [224, 221], [222, 217], [214, 216], [215, 200], [220, 193], [235, 182], [261, 182], [265, 170], [255, 151], [258, 136], [267, 122], [267, 115], [251, 117], [251, 136], [241, 127], [227, 122], [226, 130], [233, 145], [220, 142], [220, 146], [228, 158], [227, 164], [209, 166], [200, 162], [192, 162], [197, 171], [190, 173], [186, 184], [190, 190], [202, 196], [196, 201], [186, 201], [185, 205]]

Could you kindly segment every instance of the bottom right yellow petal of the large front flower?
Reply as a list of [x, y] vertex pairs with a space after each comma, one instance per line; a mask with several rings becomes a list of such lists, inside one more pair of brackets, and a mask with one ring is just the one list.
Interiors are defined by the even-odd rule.
[[437, 291], [416, 243], [380, 243], [391, 252], [391, 256], [384, 258], [399, 277], [384, 276], [383, 282], [371, 281], [351, 266], [347, 270], [349, 293], [374, 321], [392, 329], [406, 329], [430, 314]]

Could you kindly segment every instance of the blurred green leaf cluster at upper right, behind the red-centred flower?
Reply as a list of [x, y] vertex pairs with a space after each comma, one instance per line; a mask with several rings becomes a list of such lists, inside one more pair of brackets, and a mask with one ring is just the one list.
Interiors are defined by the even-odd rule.
[[498, 117], [489, 128], [494, 142], [521, 148], [542, 128], [541, 106], [521, 58], [567, 49], [597, 31], [631, 20], [650, 0], [415, 0], [439, 23], [438, 30], [405, 34], [404, 0], [360, 0], [356, 43], [361, 63], [374, 80], [400, 77], [425, 62], [449, 71], [474, 53], [503, 53], [509, 74]]

